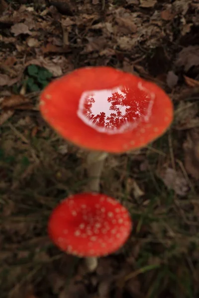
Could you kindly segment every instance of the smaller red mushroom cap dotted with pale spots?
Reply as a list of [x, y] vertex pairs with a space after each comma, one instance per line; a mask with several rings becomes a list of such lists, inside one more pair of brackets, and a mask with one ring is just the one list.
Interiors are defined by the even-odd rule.
[[103, 194], [71, 196], [53, 211], [48, 231], [63, 251], [91, 257], [116, 251], [131, 231], [128, 211], [115, 199]]

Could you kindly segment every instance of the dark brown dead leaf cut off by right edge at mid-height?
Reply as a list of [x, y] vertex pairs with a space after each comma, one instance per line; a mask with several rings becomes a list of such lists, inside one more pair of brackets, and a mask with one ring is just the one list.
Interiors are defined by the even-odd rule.
[[199, 179], [199, 130], [192, 130], [183, 144], [185, 168], [195, 179]]

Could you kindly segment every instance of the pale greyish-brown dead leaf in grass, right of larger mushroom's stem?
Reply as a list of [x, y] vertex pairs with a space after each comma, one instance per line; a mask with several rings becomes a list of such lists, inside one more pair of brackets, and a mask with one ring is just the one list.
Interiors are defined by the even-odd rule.
[[168, 167], [159, 175], [168, 189], [173, 189], [177, 195], [182, 197], [187, 195], [189, 185], [180, 171]]

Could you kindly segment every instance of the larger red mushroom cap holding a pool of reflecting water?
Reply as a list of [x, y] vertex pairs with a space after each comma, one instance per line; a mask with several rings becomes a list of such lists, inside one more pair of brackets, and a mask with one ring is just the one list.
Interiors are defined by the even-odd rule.
[[81, 68], [51, 82], [40, 111], [65, 139], [119, 153], [145, 146], [173, 120], [173, 105], [156, 84], [110, 67]]

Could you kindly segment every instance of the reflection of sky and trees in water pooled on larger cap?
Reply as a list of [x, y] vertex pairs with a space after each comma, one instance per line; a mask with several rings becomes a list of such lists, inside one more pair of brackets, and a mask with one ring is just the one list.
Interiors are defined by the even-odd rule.
[[106, 98], [99, 100], [98, 91], [92, 91], [84, 99], [82, 112], [91, 126], [115, 131], [122, 127], [137, 126], [150, 116], [151, 98], [142, 90], [119, 87], [111, 93], [108, 91], [107, 94], [111, 96]]

